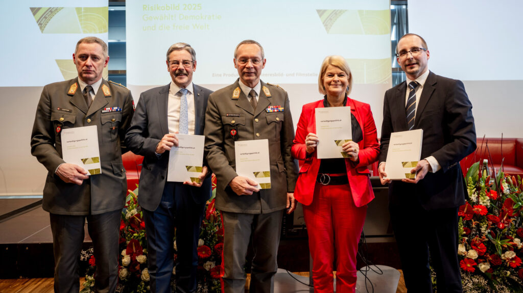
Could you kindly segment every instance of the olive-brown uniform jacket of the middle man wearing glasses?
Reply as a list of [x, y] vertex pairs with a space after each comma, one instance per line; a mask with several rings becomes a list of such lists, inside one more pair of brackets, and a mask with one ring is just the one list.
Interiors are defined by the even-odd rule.
[[[294, 125], [287, 92], [263, 81], [256, 111], [240, 90], [239, 79], [209, 97], [206, 114], [205, 150], [207, 161], [217, 177], [216, 206], [221, 211], [259, 214], [281, 211], [287, 205], [287, 192], [294, 192], [298, 164], [291, 156]], [[264, 92], [267, 89], [267, 93]], [[234, 98], [235, 90], [240, 96]], [[269, 96], [268, 96], [269, 95]], [[268, 106], [280, 106], [281, 112], [267, 112]], [[232, 114], [232, 115], [231, 115]], [[260, 197], [238, 196], [229, 187], [237, 176], [236, 140], [269, 140], [270, 189], [261, 189]]]

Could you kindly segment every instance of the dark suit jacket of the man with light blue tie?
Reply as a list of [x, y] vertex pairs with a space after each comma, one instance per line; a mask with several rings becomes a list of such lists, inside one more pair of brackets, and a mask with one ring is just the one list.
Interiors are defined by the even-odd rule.
[[[144, 156], [140, 174], [140, 196], [138, 203], [149, 211], [156, 210], [162, 198], [167, 180], [169, 152], [160, 156], [154, 152], [156, 145], [169, 133], [167, 121], [167, 86], [150, 89], [140, 95], [131, 126], [127, 131], [126, 144], [135, 154]], [[194, 84], [195, 135], [203, 135], [207, 100], [212, 91]], [[204, 164], [207, 165], [204, 161]], [[211, 176], [203, 181], [201, 187], [189, 187], [196, 203], [206, 202], [211, 196]]]

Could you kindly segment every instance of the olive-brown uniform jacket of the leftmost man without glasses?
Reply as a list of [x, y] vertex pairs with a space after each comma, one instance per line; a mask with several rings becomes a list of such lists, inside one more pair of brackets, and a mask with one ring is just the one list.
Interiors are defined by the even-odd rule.
[[[71, 91], [75, 83], [77, 88]], [[109, 89], [108, 93], [104, 93], [104, 87]], [[102, 113], [104, 108], [111, 107], [120, 107], [122, 111]], [[132, 115], [131, 92], [107, 80], [101, 82], [89, 109], [78, 78], [43, 88], [31, 133], [31, 154], [49, 171], [43, 189], [44, 210], [61, 215], [87, 215], [123, 208], [127, 184], [122, 164], [122, 150], [126, 150], [122, 147]], [[90, 176], [90, 185], [85, 180], [81, 186], [65, 183], [54, 174], [56, 168], [65, 163], [61, 129], [91, 125], [98, 127], [101, 174]]]

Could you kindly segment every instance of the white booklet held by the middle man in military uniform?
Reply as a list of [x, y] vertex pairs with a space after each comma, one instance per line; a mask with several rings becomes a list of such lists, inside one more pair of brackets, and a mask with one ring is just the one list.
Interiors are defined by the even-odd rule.
[[270, 189], [269, 140], [234, 142], [236, 173], [258, 182], [256, 188]]

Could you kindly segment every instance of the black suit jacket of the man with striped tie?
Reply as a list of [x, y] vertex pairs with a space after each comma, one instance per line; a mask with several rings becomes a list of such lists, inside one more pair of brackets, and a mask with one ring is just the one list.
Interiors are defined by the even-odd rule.
[[[405, 131], [406, 82], [385, 92], [381, 129], [380, 162], [387, 156], [391, 132]], [[416, 109], [414, 129], [423, 129], [421, 158], [434, 156], [441, 166], [417, 184], [393, 181], [390, 204], [419, 201], [426, 210], [465, 203], [467, 188], [459, 161], [476, 149], [472, 104], [463, 83], [429, 72]]]

